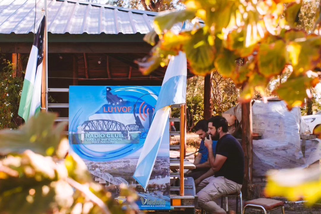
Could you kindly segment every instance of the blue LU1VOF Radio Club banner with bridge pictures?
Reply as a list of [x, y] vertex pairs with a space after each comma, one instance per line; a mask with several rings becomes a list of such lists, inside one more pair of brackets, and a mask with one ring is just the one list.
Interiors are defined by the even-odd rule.
[[70, 86], [70, 152], [86, 163], [95, 181], [119, 195], [120, 185], [136, 191], [140, 210], [170, 210], [169, 122], [146, 191], [133, 178], [152, 123], [160, 86]]

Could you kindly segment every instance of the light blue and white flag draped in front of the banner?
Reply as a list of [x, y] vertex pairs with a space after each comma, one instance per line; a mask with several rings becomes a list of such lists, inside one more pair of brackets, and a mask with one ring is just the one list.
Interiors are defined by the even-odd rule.
[[169, 61], [157, 99], [151, 128], [138, 159], [135, 180], [146, 189], [154, 167], [160, 143], [168, 123], [170, 106], [186, 103], [187, 60], [185, 53]]

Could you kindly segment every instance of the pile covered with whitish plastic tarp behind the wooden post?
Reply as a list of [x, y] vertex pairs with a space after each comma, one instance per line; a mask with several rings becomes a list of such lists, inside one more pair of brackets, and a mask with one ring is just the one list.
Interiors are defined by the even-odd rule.
[[[241, 121], [241, 105], [223, 116], [229, 125], [235, 117]], [[284, 101], [256, 100], [252, 121], [253, 133], [262, 134], [261, 140], [253, 140], [253, 176], [264, 176], [269, 169], [307, 167], [321, 158], [320, 139], [306, 141], [303, 157], [300, 134], [306, 134], [308, 126], [301, 119], [299, 108], [288, 111]]]

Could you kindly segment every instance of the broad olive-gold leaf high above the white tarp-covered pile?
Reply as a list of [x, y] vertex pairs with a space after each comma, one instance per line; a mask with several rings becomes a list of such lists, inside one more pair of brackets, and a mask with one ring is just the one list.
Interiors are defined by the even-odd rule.
[[286, 45], [282, 40], [262, 43], [258, 51], [258, 71], [270, 78], [282, 73], [286, 65]]

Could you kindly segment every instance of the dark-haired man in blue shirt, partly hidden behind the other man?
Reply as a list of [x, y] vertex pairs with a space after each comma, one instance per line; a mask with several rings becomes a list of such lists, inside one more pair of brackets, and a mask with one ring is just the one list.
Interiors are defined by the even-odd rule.
[[[193, 177], [194, 180], [205, 174], [211, 169], [210, 162], [208, 160], [208, 150], [204, 145], [204, 140], [208, 136], [208, 122], [206, 120], [200, 120], [195, 124], [194, 131], [201, 139], [200, 149], [197, 157], [194, 160], [195, 169], [187, 171], [185, 176]], [[217, 141], [213, 141], [213, 153], [215, 153]], [[201, 181], [198, 181], [200, 183]]]

